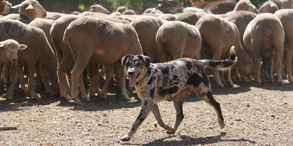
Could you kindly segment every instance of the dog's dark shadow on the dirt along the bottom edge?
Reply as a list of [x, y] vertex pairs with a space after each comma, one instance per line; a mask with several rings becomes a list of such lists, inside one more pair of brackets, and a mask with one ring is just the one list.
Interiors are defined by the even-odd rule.
[[[217, 142], [249, 142], [250, 144], [255, 144], [255, 141], [239, 138], [239, 139], [229, 139], [229, 138], [223, 138], [223, 136], [226, 135], [226, 132], [221, 132], [220, 135], [216, 136], [207, 136], [207, 137], [199, 137], [194, 138], [186, 135], [181, 135], [181, 140], [171, 140], [167, 141], [167, 138], [172, 138], [173, 136], [168, 136], [165, 138], [161, 138], [158, 140], [151, 141], [146, 144], [142, 144], [143, 146], [148, 145], [207, 145], [207, 144], [216, 144]], [[129, 145], [129, 144], [127, 144]], [[133, 145], [139, 145], [139, 144], [133, 144]]]

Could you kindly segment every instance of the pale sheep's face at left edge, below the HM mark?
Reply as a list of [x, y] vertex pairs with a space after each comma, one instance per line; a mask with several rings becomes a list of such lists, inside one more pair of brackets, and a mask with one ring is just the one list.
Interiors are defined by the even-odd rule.
[[0, 50], [4, 50], [5, 52], [5, 62], [11, 61], [12, 63], [18, 62], [18, 50], [24, 50], [27, 47], [26, 45], [19, 45], [18, 42], [14, 40], [6, 40], [0, 44]]

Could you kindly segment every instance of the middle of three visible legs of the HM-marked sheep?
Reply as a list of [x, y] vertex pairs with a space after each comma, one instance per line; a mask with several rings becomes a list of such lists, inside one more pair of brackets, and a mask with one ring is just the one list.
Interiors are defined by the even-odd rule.
[[35, 64], [34, 65], [29, 64], [28, 65], [28, 76], [29, 76], [29, 79], [28, 79], [28, 93], [29, 93], [29, 95], [31, 97], [33, 97], [33, 99], [39, 100], [40, 97], [35, 92], [35, 83], [34, 83], [35, 72], [36, 72]]

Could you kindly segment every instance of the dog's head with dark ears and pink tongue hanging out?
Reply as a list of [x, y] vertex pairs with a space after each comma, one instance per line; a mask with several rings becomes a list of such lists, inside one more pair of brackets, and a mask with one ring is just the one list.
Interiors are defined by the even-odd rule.
[[151, 59], [144, 55], [126, 55], [122, 58], [122, 68], [129, 77], [129, 86], [134, 87], [137, 78], [149, 70]]

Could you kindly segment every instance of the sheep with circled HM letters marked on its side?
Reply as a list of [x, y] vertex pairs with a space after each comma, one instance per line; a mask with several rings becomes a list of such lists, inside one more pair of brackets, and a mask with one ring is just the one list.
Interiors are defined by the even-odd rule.
[[35, 93], [34, 75], [35, 67], [42, 67], [49, 74], [49, 81], [52, 84], [53, 93], [56, 95], [59, 92], [57, 80], [57, 59], [50, 47], [45, 33], [37, 28], [25, 25], [16, 20], [1, 19], [0, 31], [3, 32], [0, 40], [15, 39], [21, 44], [26, 44], [27, 49], [18, 51], [18, 64], [12, 76], [11, 86], [8, 88], [6, 94], [7, 99], [12, 100], [12, 91], [19, 78], [19, 71], [23, 65], [28, 66], [29, 70], [29, 84], [28, 93], [34, 99], [39, 99]]

